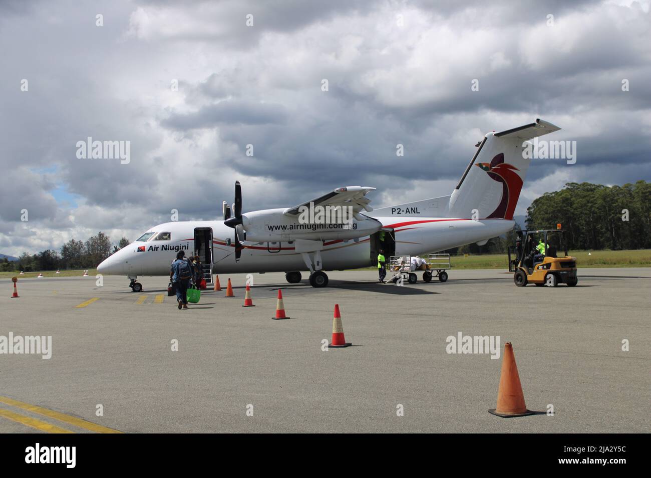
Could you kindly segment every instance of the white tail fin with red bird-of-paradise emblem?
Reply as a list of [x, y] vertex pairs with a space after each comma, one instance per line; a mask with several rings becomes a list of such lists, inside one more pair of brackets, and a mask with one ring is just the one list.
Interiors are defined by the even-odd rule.
[[538, 119], [525, 126], [488, 133], [450, 196], [450, 215], [513, 219], [531, 162], [523, 154], [523, 142], [559, 129]]

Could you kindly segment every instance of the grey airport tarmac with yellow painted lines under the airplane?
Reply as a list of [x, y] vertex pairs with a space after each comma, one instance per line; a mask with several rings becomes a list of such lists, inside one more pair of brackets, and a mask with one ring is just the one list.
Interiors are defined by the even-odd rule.
[[[0, 354], [0, 432], [651, 429], [651, 269], [579, 269], [576, 287], [555, 288], [516, 287], [496, 270], [403, 286], [374, 271], [328, 274], [323, 289], [305, 274], [253, 274], [251, 308], [245, 274], [230, 275], [232, 298], [219, 276], [224, 290], [189, 310], [164, 277], [141, 277], [132, 293], [124, 277], [98, 287], [46, 274], [20, 279], [18, 299], [0, 280], [0, 341], [51, 336], [49, 359]], [[291, 319], [271, 319], [279, 288]], [[335, 304], [352, 347], [324, 345]], [[458, 334], [499, 338], [500, 353], [510, 341], [527, 408], [541, 413], [489, 414], [502, 356], [448, 353]]]

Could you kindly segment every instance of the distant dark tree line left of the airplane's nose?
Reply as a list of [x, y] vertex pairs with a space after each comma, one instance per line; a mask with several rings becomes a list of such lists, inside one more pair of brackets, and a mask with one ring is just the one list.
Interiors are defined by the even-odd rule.
[[23, 252], [18, 261], [5, 260], [0, 263], [1, 271], [57, 271], [59, 269], [92, 269], [113, 252], [129, 245], [129, 239], [122, 237], [117, 245], [111, 246], [111, 239], [98, 232], [86, 241], [70, 239], [61, 251], [47, 249], [36, 254]]

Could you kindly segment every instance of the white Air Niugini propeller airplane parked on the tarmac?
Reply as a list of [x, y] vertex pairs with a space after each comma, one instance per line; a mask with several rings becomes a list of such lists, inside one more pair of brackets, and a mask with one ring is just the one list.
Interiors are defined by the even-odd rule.
[[[242, 214], [242, 187], [236, 181], [234, 203], [222, 204], [223, 220], [158, 224], [102, 261], [97, 271], [126, 275], [132, 291], [140, 292], [138, 276], [168, 276], [176, 253], [184, 250], [186, 256], [199, 256], [208, 284], [212, 274], [236, 272], [285, 272], [287, 282], [297, 284], [301, 272], [309, 271], [312, 287], [326, 287], [326, 271], [377, 265], [380, 248], [388, 258], [484, 245], [514, 228], [531, 162], [523, 154], [525, 142], [559, 129], [536, 119], [488, 133], [475, 145], [451, 194], [380, 209], [370, 207], [365, 197], [375, 188], [348, 186], [298, 206]], [[340, 224], [306, 223], [305, 208], [316, 206], [346, 207], [352, 217]]]

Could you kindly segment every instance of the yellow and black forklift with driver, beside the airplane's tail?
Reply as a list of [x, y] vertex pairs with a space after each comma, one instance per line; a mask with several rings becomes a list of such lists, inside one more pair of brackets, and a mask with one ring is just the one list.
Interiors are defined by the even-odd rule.
[[[508, 248], [508, 271], [514, 272], [513, 282], [518, 287], [529, 283], [538, 287], [556, 287], [559, 284], [574, 287], [578, 282], [576, 258], [568, 256], [563, 239], [561, 224], [557, 224], [556, 229], [517, 231], [516, 245]], [[544, 241], [545, 254], [536, 250], [539, 241]], [[560, 251], [563, 251], [562, 255]]]

